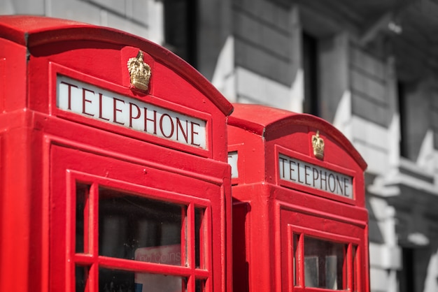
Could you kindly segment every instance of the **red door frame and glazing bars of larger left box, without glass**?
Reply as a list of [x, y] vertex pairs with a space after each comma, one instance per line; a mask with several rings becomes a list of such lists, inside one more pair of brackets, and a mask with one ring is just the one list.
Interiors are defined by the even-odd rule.
[[[100, 156], [99, 154], [90, 154], [83, 149], [78, 152], [70, 147], [52, 145], [50, 147], [52, 158], [52, 192], [54, 194], [65, 194], [66, 196], [52, 196], [50, 205], [52, 206], [50, 213], [52, 218], [50, 220], [50, 246], [53, 254], [64, 254], [64, 258], [53, 256], [50, 260], [50, 270], [52, 275], [57, 277], [51, 277], [50, 289], [53, 291], [73, 291], [74, 287], [74, 263], [80, 265], [90, 265], [90, 277], [97, 279], [97, 267], [106, 268], [118, 268], [120, 270], [132, 270], [135, 272], [158, 272], [166, 275], [177, 275], [179, 277], [187, 277], [191, 286], [195, 285], [195, 277], [198, 279], [213, 279], [213, 265], [211, 254], [212, 242], [220, 241], [220, 234], [217, 231], [211, 232], [211, 214], [220, 213], [220, 198], [216, 196], [220, 192], [220, 185], [217, 182], [205, 182], [196, 181], [192, 177], [184, 177], [178, 175], [176, 171], [169, 172], [164, 170], [155, 169], [148, 165], [138, 165], [131, 161], [120, 161], [117, 159], [108, 159], [107, 157]], [[59, 157], [62, 156], [62, 159]], [[87, 161], [84, 164], [83, 161]], [[129, 164], [125, 166], [124, 164]], [[108, 169], [112, 169], [111, 173], [108, 173]], [[127, 171], [129, 169], [129, 171]], [[108, 175], [110, 177], [108, 177]], [[166, 176], [169, 182], [157, 182], [154, 178]], [[116, 179], [112, 178], [116, 177]], [[154, 187], [148, 187], [146, 180], [155, 181]], [[143, 181], [143, 184], [139, 185], [138, 182]], [[66, 189], [64, 184], [59, 182], [66, 182]], [[90, 249], [85, 249], [84, 253], [75, 252], [76, 240], [74, 237], [75, 231], [75, 190], [76, 182], [82, 182], [90, 184], [92, 186], [92, 194], [90, 198]], [[97, 186], [102, 185], [111, 189], [119, 189], [132, 194], [138, 194], [146, 198], [159, 199], [171, 203], [178, 203], [188, 206], [187, 226], [188, 235], [187, 242], [185, 242], [183, 236], [181, 238], [181, 247], [190, 247], [186, 250], [188, 265], [162, 265], [154, 263], [143, 263], [139, 261], [131, 261], [121, 258], [109, 258], [107, 256], [99, 256], [98, 253], [98, 218], [97, 209], [99, 200], [97, 200]], [[175, 186], [183, 185], [186, 194], [178, 194], [174, 189]], [[181, 189], [181, 188], [180, 188]], [[208, 189], [209, 191], [204, 191]], [[94, 191], [93, 191], [94, 190]], [[193, 212], [196, 207], [206, 208], [206, 224], [209, 228], [206, 228], [207, 242], [205, 249], [206, 254], [206, 267], [195, 268], [195, 234], [194, 229], [194, 217]], [[211, 210], [213, 212], [211, 212]], [[85, 228], [84, 228], [85, 229]], [[182, 228], [182, 235], [185, 235], [185, 228]], [[59, 244], [64, 242], [65, 245]], [[85, 240], [84, 240], [85, 241]], [[61, 250], [58, 250], [61, 249]], [[185, 251], [185, 249], [183, 249]], [[183, 256], [182, 256], [183, 258]], [[218, 259], [216, 258], [216, 261]], [[216, 262], [215, 261], [215, 262]], [[66, 270], [65, 277], [62, 277], [60, 270]], [[98, 291], [97, 281], [94, 283], [93, 288], [89, 291]], [[207, 291], [212, 291], [212, 282], [208, 282]]]

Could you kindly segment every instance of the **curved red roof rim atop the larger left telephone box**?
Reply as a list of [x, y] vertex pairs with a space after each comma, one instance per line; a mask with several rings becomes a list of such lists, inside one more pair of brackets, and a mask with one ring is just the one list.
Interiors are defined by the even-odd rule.
[[133, 46], [147, 52], [155, 60], [166, 64], [178, 75], [190, 81], [224, 115], [230, 115], [233, 110], [232, 104], [211, 85], [211, 82], [186, 61], [160, 45], [125, 31], [53, 17], [1, 15], [0, 38], [24, 45], [28, 49], [59, 41], [101, 41]]

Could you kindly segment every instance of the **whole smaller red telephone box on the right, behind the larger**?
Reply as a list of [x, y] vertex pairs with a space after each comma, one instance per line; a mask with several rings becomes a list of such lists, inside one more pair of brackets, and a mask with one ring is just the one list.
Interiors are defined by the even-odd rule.
[[234, 291], [369, 291], [366, 163], [351, 143], [318, 117], [242, 104], [228, 142]]

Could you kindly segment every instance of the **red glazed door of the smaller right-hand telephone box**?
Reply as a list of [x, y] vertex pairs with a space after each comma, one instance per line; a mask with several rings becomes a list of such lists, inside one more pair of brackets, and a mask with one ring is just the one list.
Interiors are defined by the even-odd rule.
[[[363, 291], [365, 224], [351, 224], [297, 205], [277, 205], [281, 218], [282, 291]], [[366, 214], [365, 214], [366, 216]]]

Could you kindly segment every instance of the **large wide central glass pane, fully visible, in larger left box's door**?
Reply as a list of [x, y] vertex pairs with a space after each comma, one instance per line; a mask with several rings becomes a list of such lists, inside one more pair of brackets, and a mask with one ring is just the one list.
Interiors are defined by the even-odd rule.
[[99, 189], [99, 255], [181, 265], [186, 207]]

